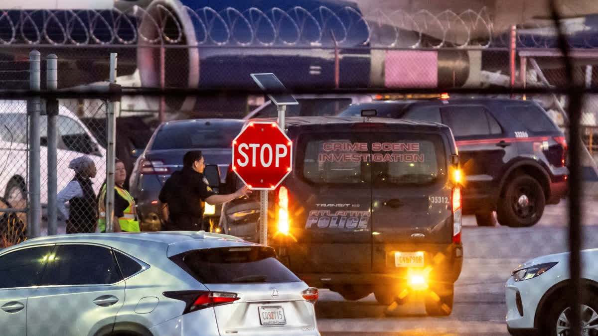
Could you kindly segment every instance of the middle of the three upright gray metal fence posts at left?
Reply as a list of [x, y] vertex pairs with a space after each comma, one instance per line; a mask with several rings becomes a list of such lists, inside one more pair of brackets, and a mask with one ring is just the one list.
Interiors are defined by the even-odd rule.
[[[58, 57], [49, 54], [46, 57], [46, 80], [47, 90], [58, 89]], [[57, 225], [57, 202], [58, 193], [58, 171], [56, 152], [58, 148], [58, 131], [56, 129], [56, 115], [58, 114], [58, 101], [48, 99], [46, 103], [48, 116], [48, 236], [58, 233]]]

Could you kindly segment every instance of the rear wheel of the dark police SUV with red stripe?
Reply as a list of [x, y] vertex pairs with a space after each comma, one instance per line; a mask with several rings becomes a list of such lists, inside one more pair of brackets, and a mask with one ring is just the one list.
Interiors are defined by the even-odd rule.
[[520, 175], [505, 187], [496, 214], [502, 225], [530, 227], [542, 217], [545, 204], [544, 190], [539, 182], [532, 176]]

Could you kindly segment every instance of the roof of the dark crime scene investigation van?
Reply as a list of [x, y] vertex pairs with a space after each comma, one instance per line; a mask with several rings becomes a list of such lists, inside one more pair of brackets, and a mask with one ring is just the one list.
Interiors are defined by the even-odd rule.
[[[260, 122], [260, 121], [269, 121], [273, 122], [276, 121], [276, 118], [262, 118], [262, 119], [252, 119], [251, 121]], [[357, 124], [357, 123], [364, 123], [364, 117], [336, 117], [336, 116], [322, 116], [322, 117], [288, 117], [285, 118], [286, 126], [304, 126], [304, 125], [330, 125], [330, 124]], [[385, 124], [392, 124], [392, 125], [404, 125], [404, 126], [424, 126], [424, 127], [435, 127], [435, 128], [446, 128], [449, 127], [440, 124], [440, 123], [432, 123], [429, 121], [417, 121], [417, 120], [406, 120], [406, 119], [395, 119], [395, 118], [379, 118], [379, 117], [371, 117], [368, 118], [365, 123], [385, 123]]]

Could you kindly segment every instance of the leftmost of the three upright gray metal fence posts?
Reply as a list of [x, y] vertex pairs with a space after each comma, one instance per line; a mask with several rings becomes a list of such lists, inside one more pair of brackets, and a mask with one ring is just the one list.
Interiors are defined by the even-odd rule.
[[[39, 91], [41, 88], [41, 59], [40, 53], [33, 50], [29, 53], [29, 88], [32, 91]], [[27, 104], [29, 115], [29, 216], [28, 216], [28, 237], [39, 237], [41, 222], [41, 200], [40, 200], [40, 160], [39, 160], [39, 114], [41, 103], [39, 97], [29, 99]]]

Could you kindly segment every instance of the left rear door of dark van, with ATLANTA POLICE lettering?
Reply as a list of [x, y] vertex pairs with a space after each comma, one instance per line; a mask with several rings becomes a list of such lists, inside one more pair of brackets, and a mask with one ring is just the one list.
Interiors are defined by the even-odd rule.
[[296, 273], [371, 270], [370, 133], [327, 130], [297, 141], [295, 171], [286, 179]]

